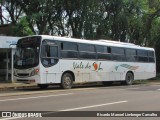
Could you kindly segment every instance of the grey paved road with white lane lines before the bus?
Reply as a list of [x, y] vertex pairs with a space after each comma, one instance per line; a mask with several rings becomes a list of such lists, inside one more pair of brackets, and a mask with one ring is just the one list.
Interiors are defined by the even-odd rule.
[[[160, 111], [160, 85], [97, 86], [70, 90], [55, 88], [44, 91], [39, 89], [22, 91], [16, 91], [16, 94], [10, 93], [7, 96], [0, 96], [0, 111], [52, 111], [51, 113], [42, 114], [48, 116], [57, 114], [54, 112], [62, 113], [62, 111], [85, 111], [88, 114], [90, 113], [89, 111]], [[56, 117], [47, 119], [53, 118], [55, 119]], [[129, 119], [128, 117], [98, 118], [104, 120]], [[9, 119], [15, 118], [6, 118], [5, 120]], [[76, 119], [81, 120], [84, 118]], [[87, 119], [97, 119], [97, 117], [88, 117]], [[134, 117], [133, 119], [150, 120], [151, 118]], [[160, 117], [152, 119], [158, 120]]]

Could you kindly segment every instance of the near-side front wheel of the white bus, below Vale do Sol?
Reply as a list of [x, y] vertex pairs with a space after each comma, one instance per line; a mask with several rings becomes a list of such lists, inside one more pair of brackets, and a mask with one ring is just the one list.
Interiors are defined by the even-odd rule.
[[73, 83], [73, 76], [70, 73], [65, 73], [62, 76], [61, 80], [61, 86], [63, 89], [70, 89], [72, 88], [72, 83]]

